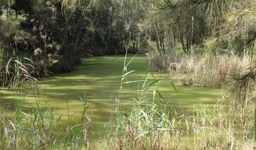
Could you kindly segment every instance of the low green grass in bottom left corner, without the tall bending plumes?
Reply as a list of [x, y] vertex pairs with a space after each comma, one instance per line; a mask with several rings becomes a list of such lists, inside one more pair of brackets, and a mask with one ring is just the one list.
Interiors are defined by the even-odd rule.
[[[85, 113], [78, 122], [75, 114], [68, 118], [68, 124], [61, 125], [61, 117], [46, 103], [37, 102], [35, 108], [24, 106], [29, 94], [21, 99], [12, 113], [3, 106], [0, 108], [0, 148], [1, 149], [81, 149], [88, 145], [87, 128], [90, 119]], [[83, 136], [84, 135], [84, 136]]]

